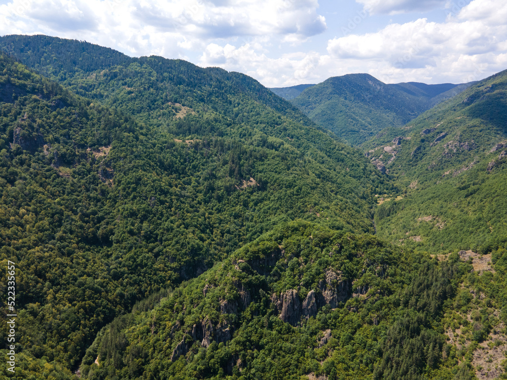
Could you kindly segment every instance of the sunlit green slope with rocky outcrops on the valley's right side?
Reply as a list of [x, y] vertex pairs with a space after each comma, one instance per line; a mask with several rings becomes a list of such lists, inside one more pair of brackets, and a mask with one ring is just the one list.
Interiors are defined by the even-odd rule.
[[433, 252], [507, 240], [507, 71], [365, 144], [406, 191], [377, 212], [380, 236]]

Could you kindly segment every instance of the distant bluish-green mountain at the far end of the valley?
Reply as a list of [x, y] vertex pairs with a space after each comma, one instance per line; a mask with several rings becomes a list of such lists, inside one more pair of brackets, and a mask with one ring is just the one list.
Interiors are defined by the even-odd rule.
[[358, 145], [381, 129], [402, 127], [466, 87], [415, 82], [386, 85], [369, 74], [348, 74], [307, 88], [291, 102], [315, 123]]

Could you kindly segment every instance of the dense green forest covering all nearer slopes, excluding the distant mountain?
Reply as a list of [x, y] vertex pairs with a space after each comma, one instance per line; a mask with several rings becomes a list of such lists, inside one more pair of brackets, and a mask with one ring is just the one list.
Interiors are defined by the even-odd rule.
[[365, 156], [240, 73], [0, 51], [2, 376], [507, 377], [505, 73]]

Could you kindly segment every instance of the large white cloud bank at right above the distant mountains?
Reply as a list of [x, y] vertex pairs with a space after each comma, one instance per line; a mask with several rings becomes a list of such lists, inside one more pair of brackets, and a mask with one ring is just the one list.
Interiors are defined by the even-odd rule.
[[507, 68], [507, 4], [474, 0], [444, 23], [418, 19], [328, 42], [332, 59], [385, 82], [466, 82]]

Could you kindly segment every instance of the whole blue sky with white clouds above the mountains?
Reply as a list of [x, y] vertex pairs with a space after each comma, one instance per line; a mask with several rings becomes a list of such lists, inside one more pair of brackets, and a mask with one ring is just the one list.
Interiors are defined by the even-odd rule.
[[507, 69], [504, 0], [0, 0], [0, 35], [46, 34], [267, 87], [366, 72], [465, 83]]

